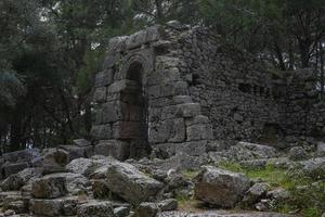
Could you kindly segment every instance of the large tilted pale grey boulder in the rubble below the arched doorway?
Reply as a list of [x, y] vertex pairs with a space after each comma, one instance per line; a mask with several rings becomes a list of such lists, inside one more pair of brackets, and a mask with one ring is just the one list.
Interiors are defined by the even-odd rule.
[[133, 205], [155, 196], [164, 187], [161, 182], [126, 163], [116, 163], [108, 167], [107, 186], [110, 191]]

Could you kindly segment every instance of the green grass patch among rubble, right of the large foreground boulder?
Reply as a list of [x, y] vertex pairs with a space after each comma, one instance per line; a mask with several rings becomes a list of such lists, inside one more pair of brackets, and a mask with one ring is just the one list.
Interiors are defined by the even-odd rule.
[[286, 214], [298, 212], [306, 217], [321, 217], [325, 212], [325, 180], [315, 184], [315, 180], [310, 177], [292, 176], [288, 170], [275, 168], [272, 164], [257, 169], [226, 162], [219, 167], [268, 182], [272, 189], [281, 187], [287, 190], [291, 196], [288, 201], [275, 204], [273, 209], [276, 212]]

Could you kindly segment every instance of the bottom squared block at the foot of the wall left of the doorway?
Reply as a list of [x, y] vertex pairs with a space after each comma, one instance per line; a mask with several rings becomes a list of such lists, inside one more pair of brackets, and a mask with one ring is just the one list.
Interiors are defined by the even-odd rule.
[[101, 140], [94, 146], [94, 153], [96, 155], [114, 156], [117, 159], [123, 161], [130, 155], [129, 143], [118, 140]]

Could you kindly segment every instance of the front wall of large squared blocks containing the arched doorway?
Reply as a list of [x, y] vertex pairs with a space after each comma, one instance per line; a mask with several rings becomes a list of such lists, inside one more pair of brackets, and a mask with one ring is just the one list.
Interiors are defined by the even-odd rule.
[[160, 156], [205, 152], [212, 128], [181, 78], [173, 41], [162, 40], [168, 35], [154, 26], [110, 41], [95, 82], [95, 152], [119, 158], [144, 155], [151, 148]]

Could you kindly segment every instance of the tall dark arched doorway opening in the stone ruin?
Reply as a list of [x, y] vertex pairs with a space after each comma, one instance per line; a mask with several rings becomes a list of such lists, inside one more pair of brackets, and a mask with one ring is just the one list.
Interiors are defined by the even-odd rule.
[[150, 152], [147, 140], [148, 105], [145, 86], [143, 84], [143, 66], [140, 62], [130, 64], [127, 71], [127, 86], [121, 92], [125, 102], [121, 133], [126, 133], [129, 142], [130, 157], [146, 156]]

